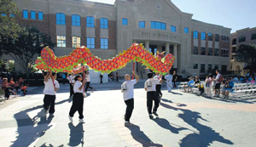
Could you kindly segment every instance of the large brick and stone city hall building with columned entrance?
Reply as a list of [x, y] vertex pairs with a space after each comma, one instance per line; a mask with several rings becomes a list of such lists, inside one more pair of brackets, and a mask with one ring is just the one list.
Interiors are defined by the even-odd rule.
[[[86, 46], [92, 54], [111, 59], [143, 43], [156, 51], [176, 57], [172, 70], [184, 76], [230, 69], [230, 28], [193, 20], [170, 0], [116, 0], [112, 4], [81, 0], [15, 0], [20, 25], [33, 25], [56, 42], [55, 54], [67, 55]], [[132, 64], [119, 70], [131, 73]], [[139, 76], [145, 67], [136, 64]]]

